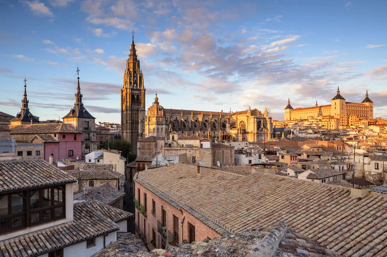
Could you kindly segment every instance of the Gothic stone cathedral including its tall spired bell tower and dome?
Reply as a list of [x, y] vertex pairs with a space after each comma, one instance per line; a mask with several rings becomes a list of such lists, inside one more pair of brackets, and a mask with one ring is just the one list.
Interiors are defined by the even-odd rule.
[[144, 75], [137, 58], [134, 37], [121, 89], [121, 137], [137, 152], [137, 140], [151, 135], [167, 137], [170, 132], [182, 136], [201, 136], [228, 141], [262, 141], [273, 138], [272, 118], [265, 111], [249, 107], [241, 112], [165, 110], [156, 94], [145, 115]]

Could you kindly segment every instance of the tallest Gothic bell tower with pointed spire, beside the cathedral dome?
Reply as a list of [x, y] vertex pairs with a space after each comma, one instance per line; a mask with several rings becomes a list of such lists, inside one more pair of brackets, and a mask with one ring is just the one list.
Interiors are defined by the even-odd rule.
[[132, 153], [136, 154], [137, 140], [143, 137], [145, 129], [145, 88], [134, 37], [130, 46], [121, 89], [121, 139], [130, 142]]

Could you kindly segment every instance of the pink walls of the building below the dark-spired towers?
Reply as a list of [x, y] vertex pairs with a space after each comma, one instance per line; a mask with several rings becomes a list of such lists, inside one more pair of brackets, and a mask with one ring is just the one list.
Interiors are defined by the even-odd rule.
[[[65, 135], [65, 138], [63, 138]], [[81, 159], [82, 155], [82, 141], [81, 134], [77, 133], [77, 140], [74, 140], [73, 133], [58, 134], [59, 143], [45, 143], [45, 160], [49, 161], [49, 156], [54, 155], [53, 160], [63, 158], [72, 158], [74, 160]], [[73, 150], [73, 156], [68, 156], [68, 150]]]

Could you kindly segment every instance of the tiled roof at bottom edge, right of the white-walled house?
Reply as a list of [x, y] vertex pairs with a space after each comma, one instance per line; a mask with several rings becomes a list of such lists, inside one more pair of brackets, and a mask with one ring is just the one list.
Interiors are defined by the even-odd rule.
[[148, 252], [141, 239], [132, 233], [117, 233], [117, 241], [111, 242], [106, 248], [91, 257], [132, 257], [137, 252]]

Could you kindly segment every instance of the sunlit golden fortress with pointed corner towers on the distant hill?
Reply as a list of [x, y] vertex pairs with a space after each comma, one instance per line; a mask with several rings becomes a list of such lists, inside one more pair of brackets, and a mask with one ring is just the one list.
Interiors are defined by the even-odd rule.
[[339, 118], [340, 126], [347, 126], [348, 117], [351, 115], [356, 115], [359, 118], [373, 119], [373, 102], [368, 98], [368, 91], [361, 103], [346, 102], [345, 98], [340, 95], [339, 88], [337, 87], [337, 94], [331, 100], [330, 105], [319, 106], [316, 101], [315, 107], [293, 109], [290, 105], [290, 100], [288, 100], [288, 105], [284, 110], [284, 120], [302, 120], [327, 115]]

